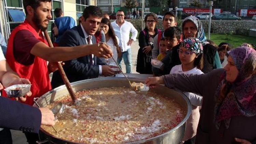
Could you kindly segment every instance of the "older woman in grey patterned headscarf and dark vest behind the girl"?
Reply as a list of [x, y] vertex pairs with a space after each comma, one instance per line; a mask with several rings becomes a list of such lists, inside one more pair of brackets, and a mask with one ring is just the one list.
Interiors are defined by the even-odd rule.
[[203, 44], [203, 69], [202, 72], [208, 73], [213, 69], [222, 68], [217, 49], [207, 42], [204, 35], [202, 23], [195, 16], [186, 17], [182, 23], [183, 38], [198, 38]]

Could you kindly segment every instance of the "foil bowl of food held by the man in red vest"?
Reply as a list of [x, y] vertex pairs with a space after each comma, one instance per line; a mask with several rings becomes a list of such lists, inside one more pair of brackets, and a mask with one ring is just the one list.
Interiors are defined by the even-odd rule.
[[18, 84], [5, 88], [8, 97], [23, 97], [30, 91], [31, 84]]

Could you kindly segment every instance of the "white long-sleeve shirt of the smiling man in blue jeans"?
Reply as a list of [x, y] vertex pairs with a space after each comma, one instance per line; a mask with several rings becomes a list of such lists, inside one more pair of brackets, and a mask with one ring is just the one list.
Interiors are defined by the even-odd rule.
[[121, 47], [122, 52], [126, 52], [127, 49], [131, 48], [131, 46], [127, 45], [127, 42], [130, 39], [130, 32], [132, 33], [131, 39], [136, 41], [138, 31], [130, 22], [126, 20], [121, 27], [118, 26], [116, 20], [113, 21], [111, 25], [115, 31], [115, 35], [119, 38], [119, 46]]

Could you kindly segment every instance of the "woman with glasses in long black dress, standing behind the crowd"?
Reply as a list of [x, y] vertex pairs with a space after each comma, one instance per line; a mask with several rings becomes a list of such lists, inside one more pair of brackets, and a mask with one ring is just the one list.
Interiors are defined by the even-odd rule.
[[152, 49], [154, 37], [160, 32], [155, 28], [157, 24], [157, 15], [149, 13], [145, 16], [144, 22], [147, 27], [139, 34], [139, 51], [137, 56], [136, 71], [141, 74], [152, 74]]

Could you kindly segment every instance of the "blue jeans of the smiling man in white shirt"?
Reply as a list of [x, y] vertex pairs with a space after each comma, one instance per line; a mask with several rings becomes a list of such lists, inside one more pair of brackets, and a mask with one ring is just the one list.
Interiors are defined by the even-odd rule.
[[121, 61], [124, 58], [126, 73], [131, 73], [131, 48], [127, 49], [126, 52], [122, 52], [122, 56], [117, 59], [117, 63], [121, 67]]

